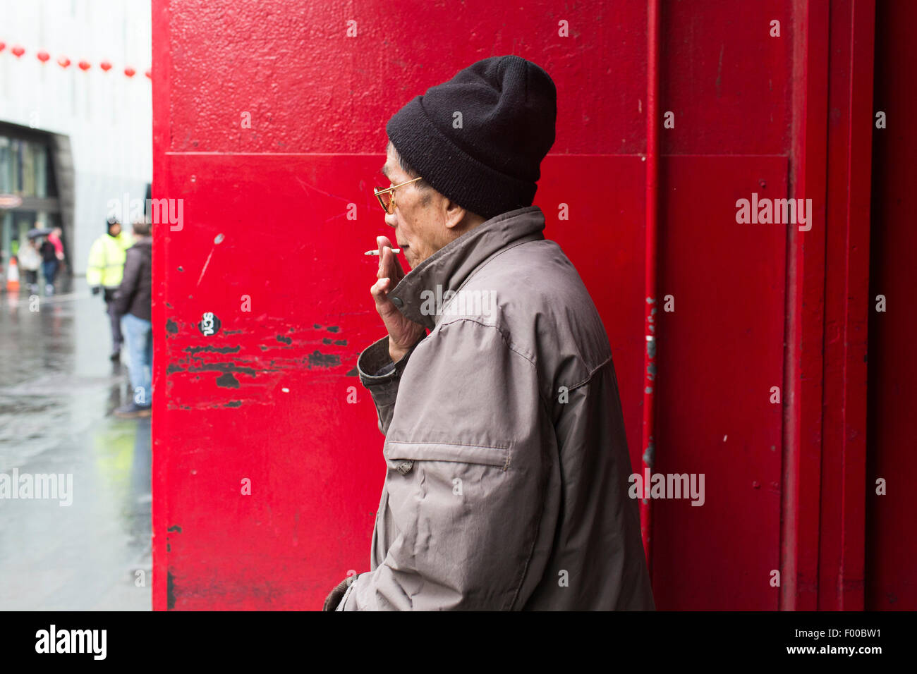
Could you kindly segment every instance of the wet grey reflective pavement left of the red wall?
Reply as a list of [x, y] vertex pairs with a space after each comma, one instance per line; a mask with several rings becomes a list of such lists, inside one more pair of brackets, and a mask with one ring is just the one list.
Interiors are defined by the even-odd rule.
[[112, 414], [109, 325], [84, 279], [0, 293], [0, 610], [150, 609], [149, 417]]

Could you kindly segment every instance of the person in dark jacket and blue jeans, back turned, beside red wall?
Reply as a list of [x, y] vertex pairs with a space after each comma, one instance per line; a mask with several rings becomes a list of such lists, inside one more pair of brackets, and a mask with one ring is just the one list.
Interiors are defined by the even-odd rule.
[[134, 223], [137, 242], [127, 249], [124, 275], [115, 295], [115, 312], [121, 316], [121, 332], [127, 342], [133, 400], [115, 410], [116, 416], [149, 416], [152, 410], [153, 329], [153, 238], [151, 225]]

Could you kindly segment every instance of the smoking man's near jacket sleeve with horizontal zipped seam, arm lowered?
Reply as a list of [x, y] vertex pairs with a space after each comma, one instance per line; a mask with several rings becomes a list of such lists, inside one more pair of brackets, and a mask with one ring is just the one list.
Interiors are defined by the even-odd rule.
[[403, 372], [384, 453], [392, 542], [337, 610], [521, 608], [557, 454], [534, 359], [495, 326], [439, 326]]

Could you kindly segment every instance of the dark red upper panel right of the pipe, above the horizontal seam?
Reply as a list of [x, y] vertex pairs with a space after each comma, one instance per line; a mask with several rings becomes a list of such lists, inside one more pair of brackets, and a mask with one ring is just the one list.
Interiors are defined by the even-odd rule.
[[660, 132], [664, 153], [789, 152], [792, 5], [662, 2], [660, 114], [675, 113]]

